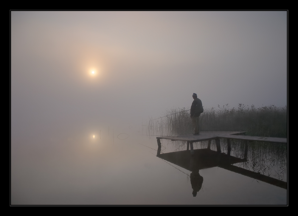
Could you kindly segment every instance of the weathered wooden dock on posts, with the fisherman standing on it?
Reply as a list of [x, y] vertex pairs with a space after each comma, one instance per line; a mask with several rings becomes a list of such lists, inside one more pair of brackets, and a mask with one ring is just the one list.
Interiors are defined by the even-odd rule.
[[220, 146], [220, 138], [227, 139], [228, 144], [228, 155], [230, 155], [231, 145], [230, 139], [240, 139], [246, 140], [245, 145], [245, 155], [247, 155], [247, 145], [249, 141], [262, 141], [262, 142], [279, 142], [279, 143], [287, 143], [287, 138], [277, 138], [277, 137], [258, 137], [258, 136], [243, 136], [246, 132], [243, 131], [202, 131], [198, 135], [186, 134], [180, 136], [157, 136], [157, 145], [158, 150], [157, 154], [160, 154], [161, 150], [161, 139], [170, 139], [172, 141], [187, 141], [187, 150], [190, 147], [190, 153], [193, 154], [193, 143], [201, 142], [208, 140], [208, 149], [210, 149], [211, 140], [215, 139], [217, 151], [221, 152]]

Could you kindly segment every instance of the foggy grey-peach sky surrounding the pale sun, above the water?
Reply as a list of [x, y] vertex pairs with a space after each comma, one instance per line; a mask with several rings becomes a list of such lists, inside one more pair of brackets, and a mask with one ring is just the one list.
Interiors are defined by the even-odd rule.
[[287, 12], [11, 12], [12, 137], [133, 124], [193, 93], [205, 109], [285, 106]]

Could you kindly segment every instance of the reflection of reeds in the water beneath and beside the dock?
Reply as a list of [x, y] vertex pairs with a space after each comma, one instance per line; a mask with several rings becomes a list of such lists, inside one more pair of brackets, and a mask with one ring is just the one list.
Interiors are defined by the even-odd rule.
[[[186, 150], [187, 148], [187, 143], [184, 141], [162, 141], [162, 146], [164, 146], [166, 152], [176, 152]], [[221, 152], [227, 153], [228, 146], [226, 139], [220, 139], [220, 143]], [[207, 148], [207, 146], [208, 141], [193, 143], [194, 149]], [[212, 140], [210, 149], [217, 151], [215, 140]], [[245, 141], [231, 140], [231, 156], [244, 158], [244, 151]], [[234, 166], [287, 181], [287, 145], [271, 142], [249, 142], [247, 161], [234, 164]]]

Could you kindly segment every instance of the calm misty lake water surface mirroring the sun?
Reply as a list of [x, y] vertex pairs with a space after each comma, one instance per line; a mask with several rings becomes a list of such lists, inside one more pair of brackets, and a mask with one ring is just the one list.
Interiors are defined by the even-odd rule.
[[[12, 138], [11, 204], [287, 204], [287, 189], [218, 166], [190, 171], [159, 158], [156, 136], [141, 134], [136, 127], [105, 126]], [[232, 143], [232, 156], [243, 158], [241, 145]], [[194, 146], [206, 147], [203, 142]], [[181, 150], [186, 150], [185, 143], [162, 140], [161, 155]], [[286, 182], [286, 151], [275, 150], [250, 143], [247, 162], [233, 166]], [[222, 151], [226, 153], [224, 141]]]

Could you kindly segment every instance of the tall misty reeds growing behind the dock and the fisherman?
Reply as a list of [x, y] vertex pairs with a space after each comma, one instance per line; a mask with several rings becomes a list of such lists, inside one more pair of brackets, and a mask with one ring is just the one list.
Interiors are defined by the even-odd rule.
[[[147, 135], [181, 135], [193, 133], [189, 108], [166, 110], [165, 117], [149, 119]], [[218, 108], [204, 109], [199, 119], [200, 131], [246, 131], [247, 136], [287, 138], [287, 106], [274, 105], [255, 108], [228, 104]]]

